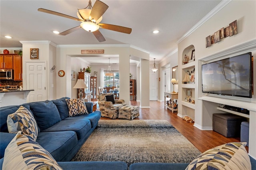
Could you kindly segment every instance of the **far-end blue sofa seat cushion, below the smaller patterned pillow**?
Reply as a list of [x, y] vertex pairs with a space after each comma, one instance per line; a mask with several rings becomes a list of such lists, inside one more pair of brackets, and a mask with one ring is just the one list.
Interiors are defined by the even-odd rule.
[[95, 127], [96, 125], [98, 125], [98, 121], [100, 120], [100, 117], [101, 117], [101, 112], [94, 111], [93, 113], [88, 113], [85, 115], [79, 115], [79, 116], [75, 116], [75, 117], [67, 117], [64, 120], [88, 119], [88, 120], [90, 120], [92, 127]]

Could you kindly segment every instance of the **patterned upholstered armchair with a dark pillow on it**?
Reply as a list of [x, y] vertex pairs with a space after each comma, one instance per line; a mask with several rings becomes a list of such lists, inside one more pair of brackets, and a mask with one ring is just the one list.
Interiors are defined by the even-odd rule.
[[100, 107], [102, 117], [116, 119], [118, 118], [118, 109], [123, 106], [126, 106], [126, 103], [124, 103], [123, 99], [114, 99], [114, 96], [112, 98], [112, 100], [114, 100], [114, 104], [112, 103], [112, 101], [106, 101], [106, 96], [110, 95], [113, 95], [113, 93], [102, 93], [98, 95], [98, 104]]

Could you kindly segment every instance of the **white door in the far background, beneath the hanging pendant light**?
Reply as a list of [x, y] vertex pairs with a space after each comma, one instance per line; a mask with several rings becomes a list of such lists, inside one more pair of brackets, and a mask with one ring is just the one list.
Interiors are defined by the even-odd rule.
[[157, 71], [149, 69], [149, 100], [157, 100]]

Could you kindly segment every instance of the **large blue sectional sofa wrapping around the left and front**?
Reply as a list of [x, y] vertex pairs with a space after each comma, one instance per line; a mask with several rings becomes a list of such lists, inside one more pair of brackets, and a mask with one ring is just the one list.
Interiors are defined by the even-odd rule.
[[[40, 101], [25, 103], [22, 106], [30, 111], [38, 125], [38, 135], [36, 142], [47, 150], [50, 155], [57, 161], [56, 163], [64, 170], [128, 170], [127, 164], [125, 162], [69, 162], [75, 154], [78, 152], [82, 144], [90, 136], [93, 130], [97, 127], [98, 121], [101, 117], [100, 111], [92, 112], [93, 104], [90, 102], [85, 103], [88, 110], [88, 114], [78, 115], [69, 117], [69, 108], [66, 103], [67, 97], [61, 99], [56, 99], [52, 101]], [[14, 133], [8, 132], [7, 127], [7, 117], [9, 114], [16, 112], [20, 106], [7, 106], [0, 108], [0, 170], [2, 170], [4, 162], [4, 153], [6, 147], [9, 143], [12, 143], [14, 137], [17, 136]], [[23, 135], [24, 136], [24, 135]], [[30, 137], [28, 137], [30, 138]], [[216, 147], [211, 149], [211, 151], [206, 151], [206, 153], [201, 154], [203, 159], [211, 160], [211, 156], [214, 154], [223, 155], [228, 148], [228, 154], [230, 154], [229, 159], [224, 160], [225, 163], [231, 161], [232, 156], [238, 152], [236, 158], [233, 160], [240, 160], [244, 167], [251, 164], [251, 169], [256, 170], [256, 160], [252, 157], [250, 161], [244, 159], [247, 156], [247, 152], [241, 143], [237, 144], [224, 144], [225, 146]], [[234, 145], [231, 147], [231, 145]], [[237, 145], [237, 146], [236, 146]], [[222, 150], [224, 148], [224, 150]], [[243, 149], [241, 149], [243, 148]], [[27, 148], [26, 148], [27, 149]], [[234, 153], [231, 151], [234, 150]], [[242, 151], [241, 151], [242, 150]], [[241, 157], [240, 153], [244, 155]], [[208, 154], [208, 155], [207, 155]], [[209, 155], [210, 154], [210, 155]], [[226, 154], [226, 153], [225, 153]], [[11, 155], [11, 154], [9, 154]], [[201, 157], [199, 159], [201, 159]], [[205, 157], [206, 156], [206, 157]], [[207, 156], [210, 156], [208, 158]], [[219, 156], [217, 156], [220, 158]], [[18, 158], [17, 158], [18, 159]], [[7, 160], [7, 158], [6, 158]], [[16, 160], [11, 155], [10, 160]], [[220, 162], [222, 161], [219, 159]], [[34, 161], [34, 160], [33, 160]], [[202, 162], [206, 162], [202, 160]], [[192, 167], [195, 167], [194, 163], [198, 161], [192, 161]], [[216, 162], [216, 161], [214, 161]], [[239, 162], [239, 161], [235, 161]], [[190, 163], [190, 164], [191, 164]], [[130, 165], [130, 170], [184, 170], [188, 167], [189, 163], [133, 163]], [[200, 166], [200, 165], [199, 165]], [[16, 167], [15, 167], [16, 168]], [[17, 167], [18, 169], [19, 167]], [[193, 168], [192, 168], [193, 169]], [[248, 169], [248, 168], [244, 168]]]

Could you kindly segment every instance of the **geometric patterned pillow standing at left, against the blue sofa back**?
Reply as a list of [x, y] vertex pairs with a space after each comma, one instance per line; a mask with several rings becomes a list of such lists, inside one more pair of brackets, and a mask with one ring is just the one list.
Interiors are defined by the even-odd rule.
[[32, 113], [23, 106], [7, 117], [7, 127], [9, 133], [18, 133], [28, 135], [36, 140], [38, 134], [38, 126]]

